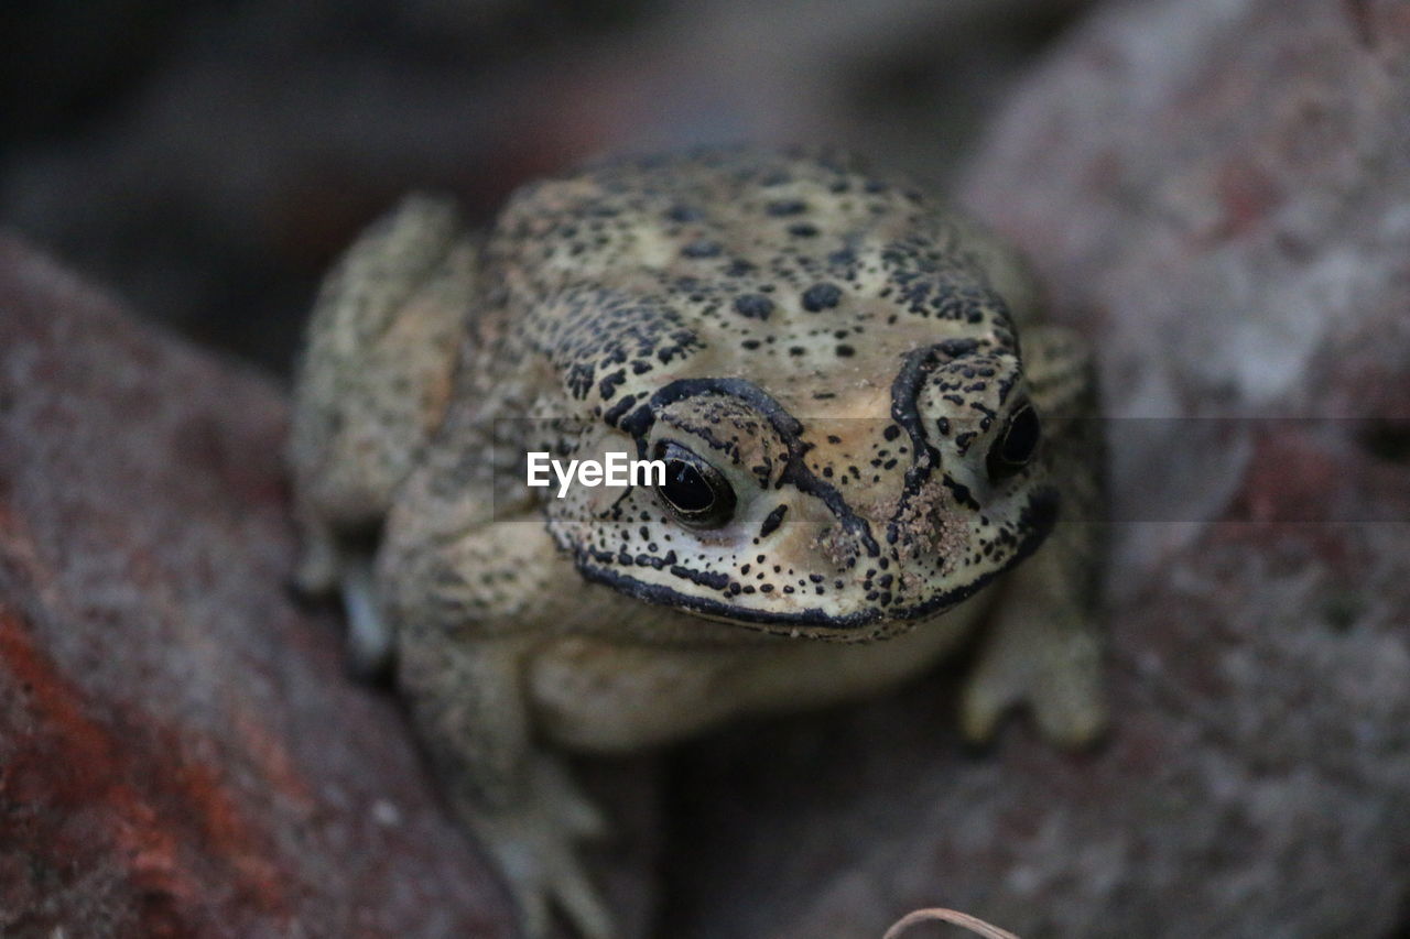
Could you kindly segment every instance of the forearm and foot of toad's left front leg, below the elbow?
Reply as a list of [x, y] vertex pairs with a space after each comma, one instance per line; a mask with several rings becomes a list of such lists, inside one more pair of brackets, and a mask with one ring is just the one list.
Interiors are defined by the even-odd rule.
[[399, 680], [455, 814], [499, 866], [526, 935], [558, 907], [588, 939], [615, 935], [577, 857], [603, 833], [560, 757], [536, 746], [525, 698], [523, 639], [447, 642], [406, 627]]

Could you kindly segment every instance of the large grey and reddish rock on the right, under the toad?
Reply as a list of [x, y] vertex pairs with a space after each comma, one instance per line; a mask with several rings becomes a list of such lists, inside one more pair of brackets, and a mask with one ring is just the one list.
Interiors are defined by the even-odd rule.
[[938, 675], [719, 735], [677, 767], [671, 935], [1406, 935], [1407, 116], [1392, 0], [1112, 3], [1032, 75], [962, 195], [1132, 419], [1114, 733], [964, 751]]

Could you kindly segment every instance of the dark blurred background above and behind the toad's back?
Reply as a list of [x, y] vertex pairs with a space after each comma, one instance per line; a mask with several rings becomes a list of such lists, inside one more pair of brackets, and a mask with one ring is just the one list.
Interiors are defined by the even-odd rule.
[[0, 224], [286, 374], [400, 193], [477, 223], [615, 151], [825, 142], [945, 186], [1087, 0], [0, 3]]

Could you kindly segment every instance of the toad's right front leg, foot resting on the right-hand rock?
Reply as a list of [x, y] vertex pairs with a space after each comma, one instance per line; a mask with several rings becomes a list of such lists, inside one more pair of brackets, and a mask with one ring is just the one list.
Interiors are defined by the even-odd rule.
[[1026, 704], [1043, 736], [1080, 746], [1107, 723], [1100, 629], [1105, 486], [1096, 378], [1081, 341], [1067, 330], [1029, 327], [1022, 344], [1062, 516], [1034, 557], [1005, 578], [964, 688], [962, 720], [967, 736], [986, 739], [1008, 708]]

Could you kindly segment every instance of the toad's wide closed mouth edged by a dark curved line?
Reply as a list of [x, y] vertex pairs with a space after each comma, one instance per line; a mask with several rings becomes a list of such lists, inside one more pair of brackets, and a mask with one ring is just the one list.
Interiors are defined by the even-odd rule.
[[[850, 612], [836, 612], [822, 608], [798, 609], [792, 601], [792, 609], [787, 610], [744, 608], [730, 603], [728, 599], [682, 594], [664, 584], [647, 584], [622, 572], [620, 568], [599, 567], [594, 564], [591, 557], [582, 554], [577, 557], [577, 565], [582, 577], [592, 582], [603, 584], [647, 603], [668, 606], [704, 619], [770, 633], [856, 642], [901, 632], [907, 625], [943, 613], [977, 594], [1038, 550], [1058, 522], [1059, 506], [1060, 499], [1056, 489], [1043, 488], [1034, 492], [1018, 515], [1018, 529], [1025, 536], [1000, 567], [909, 606], [866, 605]], [[688, 574], [684, 575], [689, 578]]]

